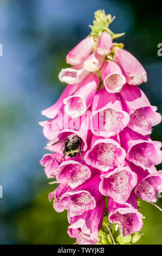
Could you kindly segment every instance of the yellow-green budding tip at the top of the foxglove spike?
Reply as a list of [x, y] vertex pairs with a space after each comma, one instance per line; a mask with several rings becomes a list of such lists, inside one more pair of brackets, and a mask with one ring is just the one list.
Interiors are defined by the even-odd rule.
[[92, 32], [90, 35], [93, 35], [94, 38], [98, 38], [103, 31], [108, 32], [113, 39], [118, 38], [125, 33], [119, 33], [115, 34], [109, 29], [109, 24], [113, 22], [115, 19], [115, 16], [112, 17], [111, 14], [105, 14], [105, 10], [97, 10], [94, 13], [95, 20], [93, 21], [93, 26], [89, 25], [89, 27], [92, 29]]

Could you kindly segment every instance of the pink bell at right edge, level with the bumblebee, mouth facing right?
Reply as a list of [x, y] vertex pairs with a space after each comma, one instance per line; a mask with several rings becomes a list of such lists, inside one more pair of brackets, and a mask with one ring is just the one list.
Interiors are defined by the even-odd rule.
[[127, 160], [144, 169], [161, 163], [161, 142], [152, 141], [129, 128], [120, 133], [121, 145], [127, 151]]

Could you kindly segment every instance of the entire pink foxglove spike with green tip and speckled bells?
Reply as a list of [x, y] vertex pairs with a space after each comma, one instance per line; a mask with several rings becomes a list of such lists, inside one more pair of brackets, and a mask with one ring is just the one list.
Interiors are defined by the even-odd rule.
[[[108, 28], [113, 21], [95, 13], [90, 35], [67, 54], [72, 65], [62, 69], [68, 84], [60, 99], [42, 111], [49, 139], [40, 163], [48, 178], [60, 185], [49, 194], [54, 209], [67, 209], [68, 234], [79, 244], [99, 241], [105, 208], [121, 236], [142, 228], [137, 197], [156, 202], [162, 189], [161, 143], [152, 141], [152, 126], [161, 121], [138, 87], [147, 81], [145, 69]], [[105, 198], [108, 197], [108, 206]]]

